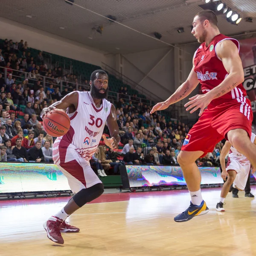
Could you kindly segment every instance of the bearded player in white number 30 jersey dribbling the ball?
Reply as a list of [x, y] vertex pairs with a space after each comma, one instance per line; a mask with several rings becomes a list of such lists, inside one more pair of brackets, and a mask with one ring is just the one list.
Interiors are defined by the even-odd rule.
[[79, 232], [79, 228], [65, 222], [66, 218], [104, 192], [103, 184], [89, 161], [99, 145], [106, 122], [111, 139], [103, 135], [105, 144], [116, 148], [120, 142], [116, 108], [105, 99], [108, 93], [107, 73], [104, 70], [93, 71], [90, 86], [90, 92], [69, 93], [41, 113], [44, 118], [52, 109], [59, 108], [67, 109], [70, 116], [70, 129], [55, 140], [52, 158], [67, 177], [75, 195], [44, 223], [48, 238], [58, 244], [64, 243], [61, 232]]

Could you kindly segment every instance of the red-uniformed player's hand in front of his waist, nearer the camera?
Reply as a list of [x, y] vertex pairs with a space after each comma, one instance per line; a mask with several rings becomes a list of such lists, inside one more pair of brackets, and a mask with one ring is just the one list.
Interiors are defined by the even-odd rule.
[[190, 102], [187, 102], [184, 107], [188, 107], [186, 108], [186, 111], [189, 111], [190, 109], [192, 109], [192, 111], [190, 111], [190, 113], [194, 113], [195, 111], [198, 110], [198, 108], [200, 108], [200, 113], [199, 116], [202, 115], [204, 109], [209, 105], [209, 103], [212, 101], [212, 99], [209, 99], [209, 97], [206, 94], [198, 94], [195, 95], [191, 98], [189, 98]]

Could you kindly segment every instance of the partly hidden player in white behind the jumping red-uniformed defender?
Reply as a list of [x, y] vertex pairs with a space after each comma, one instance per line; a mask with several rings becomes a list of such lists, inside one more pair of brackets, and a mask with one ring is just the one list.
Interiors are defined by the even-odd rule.
[[[251, 134], [251, 142], [256, 144], [256, 135], [254, 133]], [[229, 152], [227, 167], [225, 166], [225, 156]], [[221, 198], [219, 203], [216, 205], [216, 210], [218, 212], [224, 212], [223, 208], [224, 200], [230, 190], [230, 186], [233, 183], [233, 187], [242, 191], [245, 188], [248, 175], [251, 168], [250, 161], [241, 154], [236, 148], [234, 148], [229, 141], [226, 141], [224, 147], [221, 150], [220, 155], [221, 162], [221, 177], [223, 180], [227, 181], [223, 184], [221, 189]], [[255, 168], [252, 169], [252, 173], [255, 172]]]

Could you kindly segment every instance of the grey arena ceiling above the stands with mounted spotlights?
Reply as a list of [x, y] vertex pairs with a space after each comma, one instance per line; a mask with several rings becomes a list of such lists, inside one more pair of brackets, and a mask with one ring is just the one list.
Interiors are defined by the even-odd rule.
[[[256, 30], [255, 0], [222, 2], [243, 17], [236, 26], [227, 22], [225, 15], [218, 15], [222, 33], [236, 35]], [[1, 0], [0, 16], [106, 53], [125, 54], [195, 41], [191, 23], [202, 4], [205, 0], [74, 0], [73, 5], [65, 0]], [[110, 22], [107, 15], [132, 29]], [[253, 23], [246, 22], [245, 17], [253, 17]], [[100, 26], [102, 34], [96, 31]], [[183, 33], [177, 32], [180, 27]], [[152, 39], [139, 32], [153, 37], [154, 32], [159, 32], [162, 38]]]

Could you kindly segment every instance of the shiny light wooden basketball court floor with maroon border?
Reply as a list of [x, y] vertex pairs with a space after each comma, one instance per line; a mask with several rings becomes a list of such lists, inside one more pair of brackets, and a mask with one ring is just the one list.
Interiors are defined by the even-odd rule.
[[[187, 190], [105, 194], [68, 218], [80, 233], [47, 238], [44, 221], [68, 198], [0, 201], [0, 256], [250, 256], [256, 255], [256, 199], [202, 189], [210, 209], [184, 223], [173, 218], [189, 205]], [[256, 187], [252, 187], [256, 195]]]

